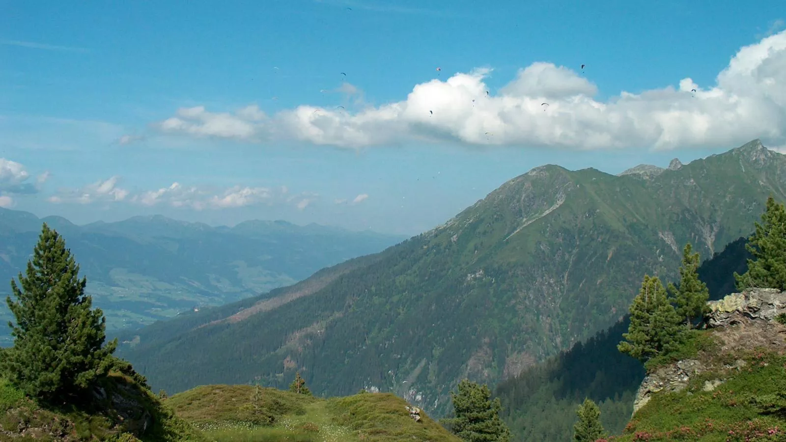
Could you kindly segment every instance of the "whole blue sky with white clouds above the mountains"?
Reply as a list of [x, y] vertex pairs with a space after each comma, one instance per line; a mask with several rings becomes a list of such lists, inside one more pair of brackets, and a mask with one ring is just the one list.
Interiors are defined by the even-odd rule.
[[784, 19], [780, 0], [0, 0], [0, 207], [418, 234], [542, 164], [784, 149]]

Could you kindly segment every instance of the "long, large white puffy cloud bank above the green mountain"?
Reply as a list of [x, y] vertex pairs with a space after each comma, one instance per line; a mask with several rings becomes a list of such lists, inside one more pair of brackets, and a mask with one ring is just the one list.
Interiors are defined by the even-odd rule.
[[267, 116], [255, 106], [234, 113], [200, 106], [180, 109], [157, 125], [169, 133], [254, 142], [295, 139], [344, 148], [413, 140], [564, 149], [672, 149], [752, 138], [782, 145], [784, 72], [786, 31], [780, 31], [741, 48], [714, 85], [675, 79], [678, 87], [621, 91], [600, 101], [594, 98], [597, 87], [577, 72], [536, 62], [497, 94], [490, 94], [484, 82], [490, 68], [477, 68], [417, 84], [405, 100], [358, 112], [300, 105]]

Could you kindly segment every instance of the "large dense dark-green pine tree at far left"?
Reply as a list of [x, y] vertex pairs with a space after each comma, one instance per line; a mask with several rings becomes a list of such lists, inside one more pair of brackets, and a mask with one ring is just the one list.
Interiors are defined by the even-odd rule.
[[16, 325], [14, 343], [0, 361], [0, 371], [29, 396], [54, 400], [77, 395], [106, 374], [115, 359], [117, 340], [105, 342], [105, 318], [85, 295], [86, 278], [65, 241], [46, 223], [19, 285], [11, 280], [6, 298]]

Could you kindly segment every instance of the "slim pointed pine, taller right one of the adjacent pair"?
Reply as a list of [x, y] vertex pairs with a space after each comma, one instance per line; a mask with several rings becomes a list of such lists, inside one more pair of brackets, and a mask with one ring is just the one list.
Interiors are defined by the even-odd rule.
[[692, 246], [690, 243], [686, 244], [682, 251], [680, 281], [676, 287], [669, 284], [668, 289], [674, 295], [677, 315], [685, 321], [689, 329], [696, 318], [702, 318], [710, 309], [707, 306], [710, 291], [707, 284], [699, 279], [699, 264], [699, 253], [692, 253]]

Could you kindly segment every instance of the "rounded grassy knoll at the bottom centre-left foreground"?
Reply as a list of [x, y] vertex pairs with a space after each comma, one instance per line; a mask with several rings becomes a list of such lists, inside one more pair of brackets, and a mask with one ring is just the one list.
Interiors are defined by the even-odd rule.
[[391, 393], [325, 400], [251, 385], [207, 385], [166, 403], [215, 442], [458, 442], [424, 413], [414, 422], [406, 402]]

